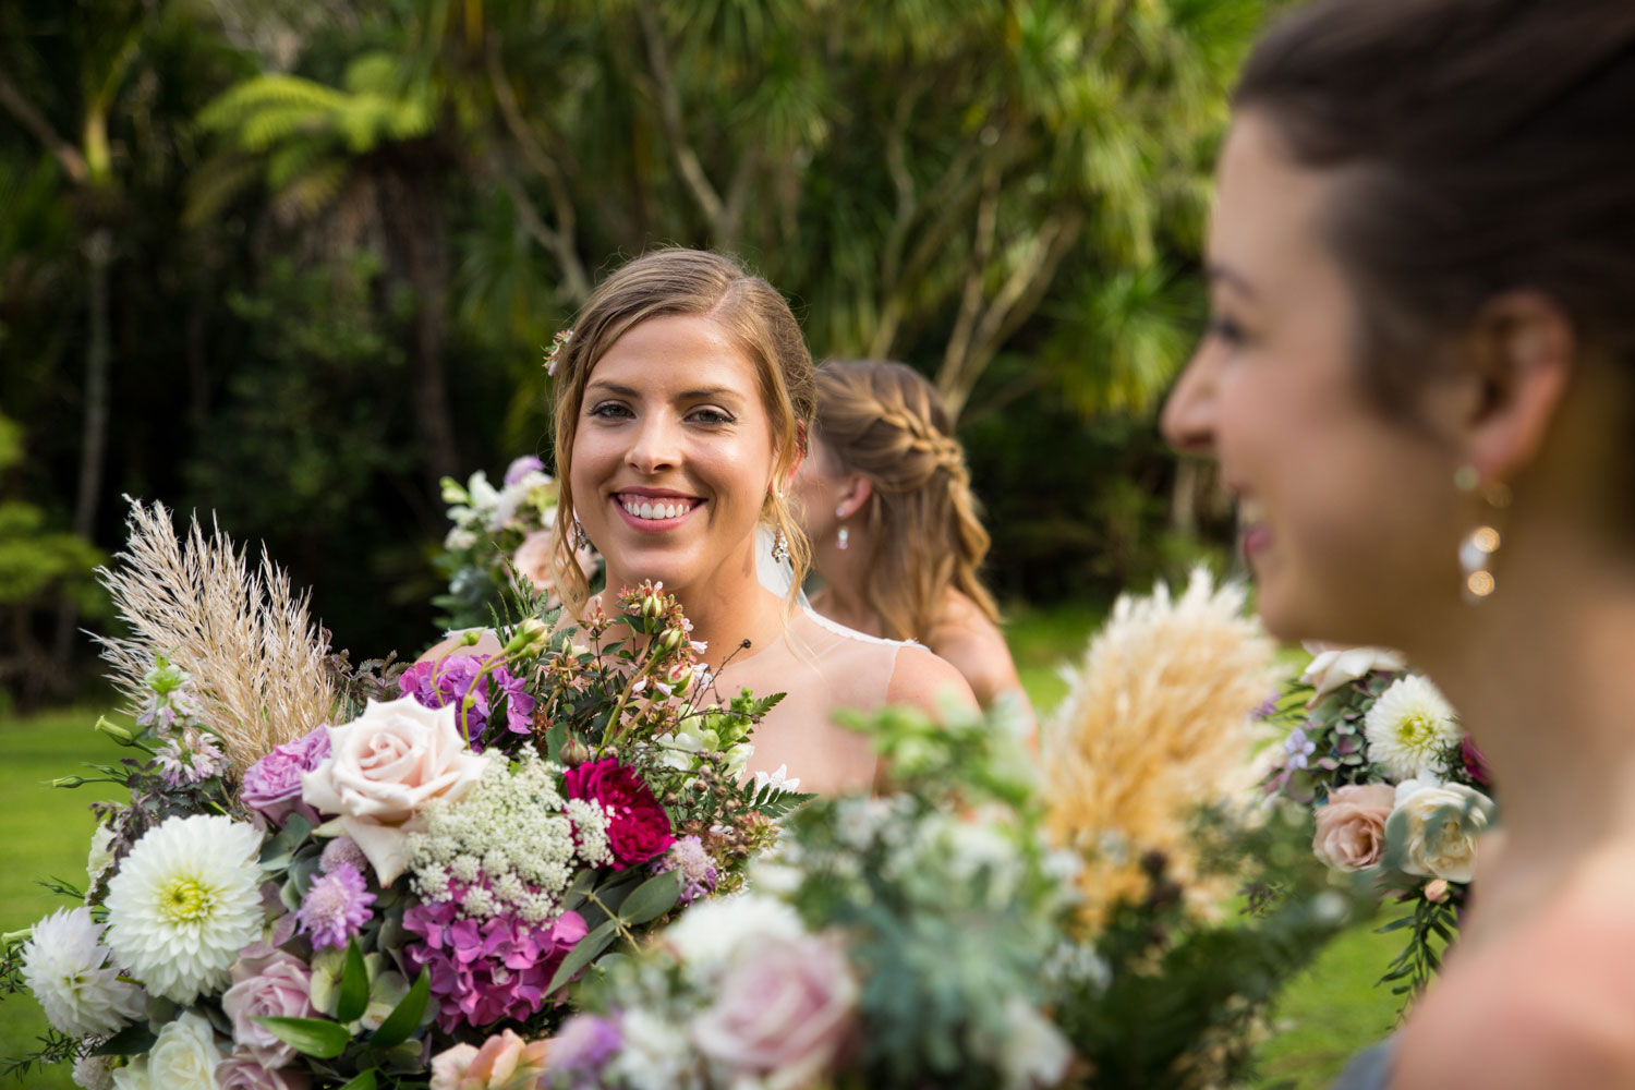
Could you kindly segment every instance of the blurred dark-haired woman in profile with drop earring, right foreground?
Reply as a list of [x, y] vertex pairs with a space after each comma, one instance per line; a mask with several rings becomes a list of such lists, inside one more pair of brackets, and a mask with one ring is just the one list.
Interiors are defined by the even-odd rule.
[[1328, 0], [1256, 47], [1166, 412], [1267, 628], [1398, 647], [1503, 853], [1390, 1085], [1635, 1085], [1635, 5]]

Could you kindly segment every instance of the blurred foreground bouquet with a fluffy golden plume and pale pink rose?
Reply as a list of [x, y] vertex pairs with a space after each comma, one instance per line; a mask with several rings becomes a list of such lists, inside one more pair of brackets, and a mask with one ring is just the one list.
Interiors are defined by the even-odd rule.
[[1041, 762], [1002, 709], [855, 719], [885, 793], [808, 802], [747, 892], [603, 958], [543, 1085], [1241, 1083], [1351, 907], [1303, 827], [1231, 812], [1270, 677], [1243, 605], [1202, 577], [1122, 601]]

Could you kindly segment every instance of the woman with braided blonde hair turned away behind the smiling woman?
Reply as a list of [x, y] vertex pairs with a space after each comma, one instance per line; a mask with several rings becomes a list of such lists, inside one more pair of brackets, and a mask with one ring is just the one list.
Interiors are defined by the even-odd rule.
[[818, 369], [818, 422], [795, 482], [824, 580], [813, 608], [862, 632], [925, 644], [984, 708], [1001, 695], [1025, 706], [999, 610], [976, 575], [988, 531], [950, 431], [937, 391], [901, 363]]

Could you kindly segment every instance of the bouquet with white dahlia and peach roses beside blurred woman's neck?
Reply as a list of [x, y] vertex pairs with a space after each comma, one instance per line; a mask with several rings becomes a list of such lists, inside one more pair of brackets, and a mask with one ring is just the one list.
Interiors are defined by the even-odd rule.
[[1476, 878], [1476, 838], [1496, 820], [1488, 768], [1429, 678], [1396, 652], [1319, 650], [1267, 717], [1288, 727], [1265, 796], [1311, 807], [1311, 850], [1373, 878], [1409, 912], [1383, 930], [1409, 938], [1383, 982], [1418, 994], [1458, 930]]

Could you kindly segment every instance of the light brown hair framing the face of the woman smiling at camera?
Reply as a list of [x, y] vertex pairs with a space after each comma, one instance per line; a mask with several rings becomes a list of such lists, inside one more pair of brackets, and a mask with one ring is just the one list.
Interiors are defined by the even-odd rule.
[[772, 418], [773, 444], [773, 487], [762, 505], [760, 521], [782, 531], [788, 543], [795, 565], [791, 603], [811, 565], [811, 546], [795, 521], [788, 498], [778, 489], [795, 472], [806, 449], [806, 430], [816, 410], [813, 358], [800, 324], [772, 284], [749, 275], [732, 258], [680, 247], [654, 250], [597, 284], [579, 312], [572, 335], [556, 355], [553, 412], [561, 516], [551, 536], [551, 567], [562, 588], [562, 601], [574, 614], [590, 595], [585, 575], [574, 559], [572, 543], [571, 466], [585, 386], [597, 361], [620, 337], [647, 319], [675, 314], [710, 319], [755, 364], [760, 395]]

